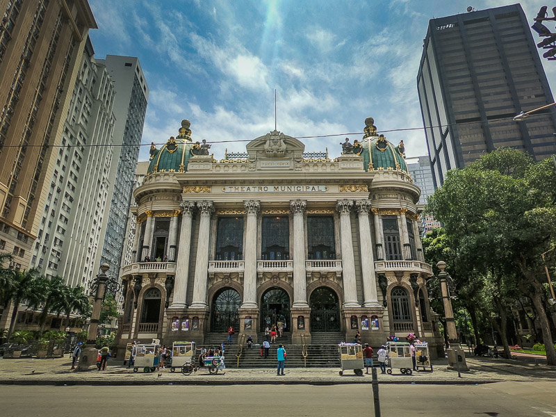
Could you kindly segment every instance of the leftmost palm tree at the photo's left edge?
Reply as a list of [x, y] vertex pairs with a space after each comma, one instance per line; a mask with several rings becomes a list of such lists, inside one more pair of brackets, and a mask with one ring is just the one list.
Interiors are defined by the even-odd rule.
[[12, 320], [10, 321], [10, 327], [8, 328], [9, 338], [15, 327], [19, 303], [22, 302], [22, 300], [35, 302], [37, 295], [40, 294], [35, 291], [35, 289], [40, 291], [40, 288], [36, 288], [35, 283], [40, 279], [41, 275], [39, 270], [36, 268], [31, 268], [30, 270], [26, 270], [24, 272], [13, 269], [3, 269], [1, 271], [2, 277], [6, 277], [5, 281], [8, 284], [5, 288], [3, 288], [4, 304], [7, 305], [10, 301], [13, 302]]

